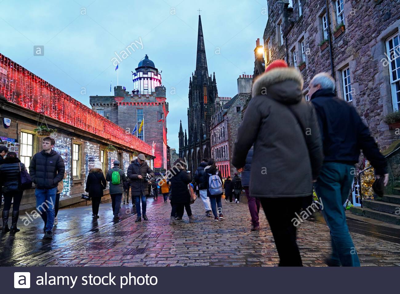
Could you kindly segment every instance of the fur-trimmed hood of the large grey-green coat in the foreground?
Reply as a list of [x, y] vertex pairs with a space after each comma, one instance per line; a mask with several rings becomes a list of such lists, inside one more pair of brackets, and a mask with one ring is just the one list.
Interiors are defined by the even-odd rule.
[[302, 100], [304, 80], [297, 68], [275, 68], [260, 75], [253, 84], [252, 98], [268, 95], [285, 104]]

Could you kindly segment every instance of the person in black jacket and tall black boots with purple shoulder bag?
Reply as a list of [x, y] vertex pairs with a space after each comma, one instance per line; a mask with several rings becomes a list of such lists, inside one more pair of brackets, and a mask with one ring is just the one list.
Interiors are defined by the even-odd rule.
[[[21, 170], [25, 170], [25, 165], [21, 163], [15, 152], [8, 152], [3, 164], [0, 165], [0, 178], [2, 179], [4, 193], [4, 208], [2, 211], [3, 227], [2, 232], [16, 233], [20, 230], [17, 228], [18, 216], [20, 213], [20, 203], [22, 193], [20, 174]], [[11, 201], [12, 205], [12, 222], [11, 228], [8, 228], [8, 216], [10, 215]]]

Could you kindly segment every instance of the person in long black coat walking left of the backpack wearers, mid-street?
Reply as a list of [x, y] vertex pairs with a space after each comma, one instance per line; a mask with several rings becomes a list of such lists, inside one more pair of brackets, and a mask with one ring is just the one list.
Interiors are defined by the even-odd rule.
[[174, 167], [168, 171], [170, 175], [167, 175], [167, 178], [170, 178], [168, 183], [171, 185], [172, 204], [170, 224], [178, 224], [175, 220], [175, 215], [176, 212], [183, 210], [183, 207], [186, 209], [189, 222], [197, 220], [190, 209], [190, 193], [188, 190], [188, 184], [192, 182], [192, 175], [190, 172], [186, 171], [186, 168], [186, 162], [184, 162], [183, 159], [178, 158], [174, 162]]

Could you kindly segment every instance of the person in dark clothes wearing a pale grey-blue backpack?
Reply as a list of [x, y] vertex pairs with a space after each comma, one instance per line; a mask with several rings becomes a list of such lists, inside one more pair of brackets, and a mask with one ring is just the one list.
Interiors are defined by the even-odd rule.
[[[210, 198], [212, 214], [214, 214], [214, 222], [223, 220], [222, 214], [222, 176], [221, 172], [215, 165], [215, 160], [208, 160], [208, 166], [204, 168], [207, 178], [207, 196]], [[217, 210], [218, 209], [218, 210]]]

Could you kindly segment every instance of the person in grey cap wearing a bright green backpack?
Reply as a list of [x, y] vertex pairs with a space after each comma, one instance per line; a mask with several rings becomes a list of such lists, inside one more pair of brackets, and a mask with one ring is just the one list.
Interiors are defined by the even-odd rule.
[[112, 200], [112, 214], [114, 219], [118, 220], [122, 193], [124, 193], [124, 182], [127, 181], [125, 173], [120, 169], [119, 160], [114, 160], [114, 167], [109, 169], [106, 176], [106, 181], [110, 182], [110, 196]]

